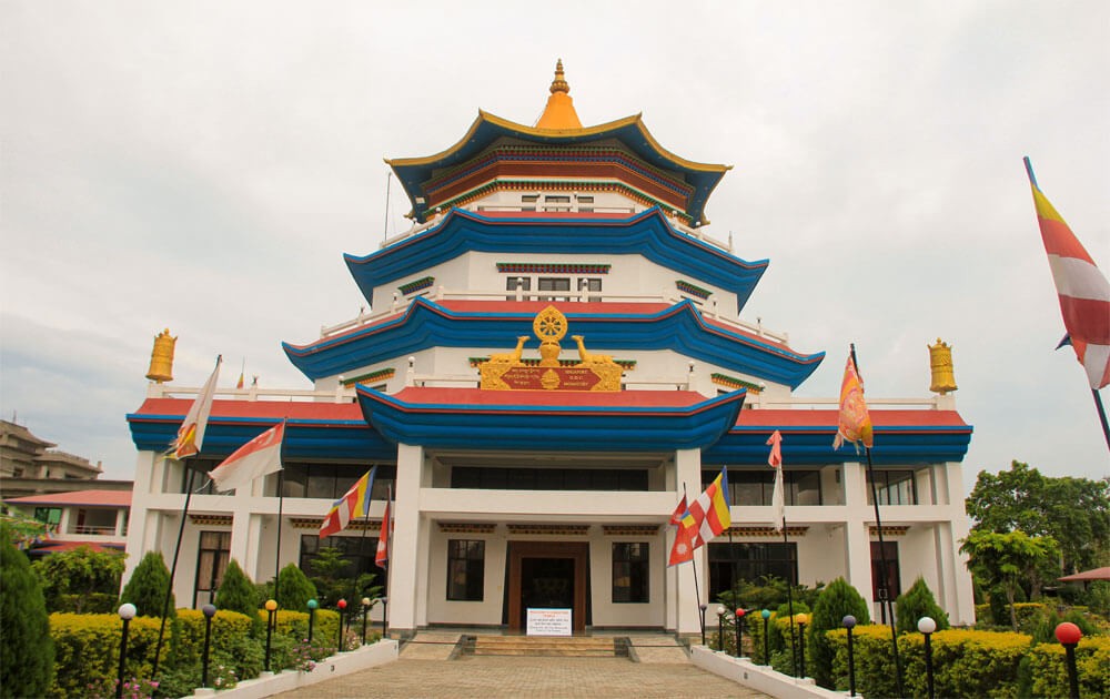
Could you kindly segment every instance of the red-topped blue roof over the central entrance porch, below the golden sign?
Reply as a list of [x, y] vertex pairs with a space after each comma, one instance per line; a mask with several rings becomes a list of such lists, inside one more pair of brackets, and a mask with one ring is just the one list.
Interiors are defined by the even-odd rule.
[[434, 448], [670, 452], [716, 442], [746, 393], [483, 391], [359, 386], [366, 422], [386, 439]]

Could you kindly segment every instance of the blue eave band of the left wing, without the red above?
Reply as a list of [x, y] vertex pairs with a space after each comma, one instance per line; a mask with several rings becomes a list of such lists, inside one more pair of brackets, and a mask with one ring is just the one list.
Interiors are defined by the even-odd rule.
[[[131, 413], [131, 439], [140, 452], [165, 452], [178, 436], [184, 415]], [[203, 458], [224, 458], [281, 421], [221, 417], [210, 419], [204, 432]], [[374, 459], [396, 458], [396, 447], [363, 421], [290, 419], [282, 446], [284, 458]]]

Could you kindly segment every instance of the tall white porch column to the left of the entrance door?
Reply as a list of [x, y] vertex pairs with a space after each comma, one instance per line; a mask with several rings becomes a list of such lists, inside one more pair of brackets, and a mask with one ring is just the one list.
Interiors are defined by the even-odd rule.
[[[420, 571], [426, 571], [426, 533], [421, 540], [420, 489], [424, 472], [424, 449], [397, 445], [397, 480], [394, 494], [393, 550], [390, 551], [390, 629], [414, 630], [425, 606], [418, 598]], [[425, 560], [421, 566], [421, 555]], [[426, 589], [426, 582], [424, 584]], [[424, 612], [426, 614], [426, 611]]]

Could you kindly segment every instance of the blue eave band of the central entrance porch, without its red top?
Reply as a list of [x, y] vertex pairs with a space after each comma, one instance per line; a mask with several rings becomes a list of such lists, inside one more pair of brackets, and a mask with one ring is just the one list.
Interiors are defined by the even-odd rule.
[[359, 386], [366, 422], [386, 439], [431, 448], [558, 452], [703, 449], [731, 425], [737, 391], [677, 408], [411, 404]]

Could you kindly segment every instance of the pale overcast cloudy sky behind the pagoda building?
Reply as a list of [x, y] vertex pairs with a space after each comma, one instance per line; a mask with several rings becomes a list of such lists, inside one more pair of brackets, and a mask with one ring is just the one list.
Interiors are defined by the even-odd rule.
[[[230, 6], [230, 7], [229, 7]], [[953, 345], [965, 462], [1110, 474], [1021, 164], [1110, 269], [1110, 3], [0, 1], [0, 414], [130, 478], [151, 342], [307, 387], [280, 342], [363, 303], [342, 253], [404, 230], [383, 158], [484, 109], [643, 112], [727, 163], [710, 234], [770, 259], [745, 308], [871, 397]], [[1103, 392], [1107, 393], [1107, 392]], [[1108, 397], [1110, 401], [1110, 397]]]

